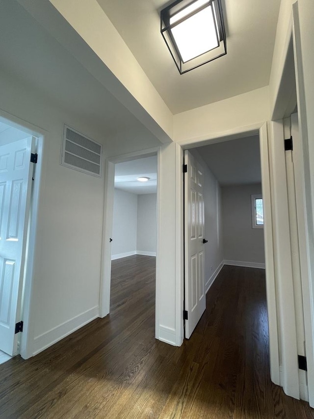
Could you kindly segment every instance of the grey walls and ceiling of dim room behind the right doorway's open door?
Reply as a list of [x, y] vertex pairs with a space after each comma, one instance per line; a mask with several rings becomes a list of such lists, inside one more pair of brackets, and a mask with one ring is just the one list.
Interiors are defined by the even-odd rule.
[[262, 196], [260, 140], [254, 135], [189, 151], [205, 171], [208, 290], [223, 264], [265, 266], [263, 228], [254, 228], [252, 223], [252, 196]]

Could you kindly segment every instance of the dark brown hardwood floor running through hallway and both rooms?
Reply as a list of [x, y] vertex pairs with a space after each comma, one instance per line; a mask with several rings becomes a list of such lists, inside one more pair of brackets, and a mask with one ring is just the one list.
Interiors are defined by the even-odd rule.
[[111, 313], [0, 365], [0, 418], [314, 418], [271, 383], [264, 271], [225, 266], [193, 335], [154, 338], [155, 258], [112, 262]]

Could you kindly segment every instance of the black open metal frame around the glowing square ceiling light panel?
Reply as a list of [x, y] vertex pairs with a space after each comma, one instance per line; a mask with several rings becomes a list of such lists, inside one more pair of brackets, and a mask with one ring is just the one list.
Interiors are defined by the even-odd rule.
[[[169, 6], [162, 9], [160, 12], [160, 32], [174, 62], [176, 63], [176, 66], [180, 74], [187, 73], [190, 70], [198, 68], [201, 65], [204, 65], [210, 61], [213, 61], [214, 59], [217, 59], [227, 54], [226, 32], [220, 0], [208, 0], [204, 5], [200, 6], [193, 12], [184, 16], [184, 18], [178, 20], [172, 25], [170, 24], [170, 18], [173, 15], [177, 14], [179, 11], [183, 10], [190, 4], [193, 4], [195, 1], [197, 0], [177, 0]], [[215, 27], [215, 30], [219, 46], [217, 48], [213, 48], [210, 51], [207, 51], [204, 54], [201, 54], [200, 56], [194, 57], [184, 62], [180, 54], [179, 48], [177, 46], [177, 43], [172, 35], [171, 29], [208, 6], [215, 8], [216, 11], [218, 28]]]

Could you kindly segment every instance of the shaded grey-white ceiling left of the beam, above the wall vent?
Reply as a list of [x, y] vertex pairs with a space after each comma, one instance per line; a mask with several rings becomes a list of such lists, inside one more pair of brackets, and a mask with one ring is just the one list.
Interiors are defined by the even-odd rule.
[[0, 71], [88, 122], [103, 134], [107, 155], [160, 145], [17, 1], [0, 1], [0, 28]]

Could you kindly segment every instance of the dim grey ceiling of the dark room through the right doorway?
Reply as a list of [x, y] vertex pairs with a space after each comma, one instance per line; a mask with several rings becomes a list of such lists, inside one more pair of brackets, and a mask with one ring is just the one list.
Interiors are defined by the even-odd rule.
[[198, 147], [221, 186], [260, 183], [261, 158], [259, 136], [217, 142]]

